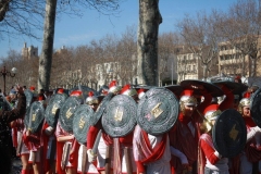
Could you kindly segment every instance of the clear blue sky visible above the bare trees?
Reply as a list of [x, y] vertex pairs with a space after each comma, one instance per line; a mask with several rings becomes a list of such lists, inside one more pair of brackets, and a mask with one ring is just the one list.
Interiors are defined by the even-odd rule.
[[[99, 40], [105, 35], [115, 34], [121, 36], [127, 26], [138, 27], [138, 0], [125, 0], [121, 3], [121, 13], [117, 16], [108, 17], [95, 10], [86, 10], [83, 17], [60, 16], [55, 22], [54, 49], [65, 47], [77, 47], [88, 45], [91, 40]], [[159, 9], [163, 23], [159, 33], [174, 32], [175, 23], [182, 20], [185, 14], [195, 15], [198, 12], [211, 12], [212, 9], [226, 11], [236, 0], [160, 0]], [[38, 35], [42, 37], [44, 32]], [[38, 47], [38, 54], [41, 52], [41, 40], [27, 37], [18, 39], [0, 40], [0, 58], [5, 58], [9, 50], [21, 52], [24, 47]]]

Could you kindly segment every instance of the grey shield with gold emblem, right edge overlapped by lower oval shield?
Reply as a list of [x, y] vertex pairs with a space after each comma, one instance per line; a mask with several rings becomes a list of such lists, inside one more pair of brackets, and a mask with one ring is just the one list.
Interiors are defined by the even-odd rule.
[[61, 123], [61, 127], [67, 133], [73, 133], [74, 112], [79, 104], [80, 99], [71, 96], [64, 101], [60, 109], [59, 121]]

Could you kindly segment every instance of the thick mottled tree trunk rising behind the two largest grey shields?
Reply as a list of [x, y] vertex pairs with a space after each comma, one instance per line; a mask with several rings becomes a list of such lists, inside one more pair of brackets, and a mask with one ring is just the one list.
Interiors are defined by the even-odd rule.
[[139, 0], [138, 84], [158, 85], [159, 0]]

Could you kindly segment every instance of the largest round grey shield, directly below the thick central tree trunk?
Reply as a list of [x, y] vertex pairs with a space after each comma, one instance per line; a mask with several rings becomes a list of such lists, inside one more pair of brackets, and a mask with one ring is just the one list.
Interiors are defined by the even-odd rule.
[[169, 132], [179, 113], [175, 95], [165, 88], [152, 88], [140, 99], [137, 110], [137, 124], [151, 135]]

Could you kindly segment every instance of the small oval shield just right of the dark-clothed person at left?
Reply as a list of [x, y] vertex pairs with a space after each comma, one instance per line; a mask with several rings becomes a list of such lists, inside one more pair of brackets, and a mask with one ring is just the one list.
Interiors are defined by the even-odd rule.
[[37, 133], [41, 128], [42, 121], [45, 119], [45, 108], [41, 102], [34, 101], [30, 107], [28, 114], [25, 115], [25, 125], [32, 133]]

